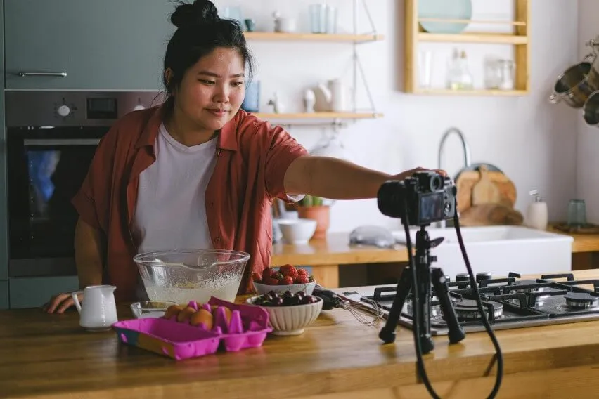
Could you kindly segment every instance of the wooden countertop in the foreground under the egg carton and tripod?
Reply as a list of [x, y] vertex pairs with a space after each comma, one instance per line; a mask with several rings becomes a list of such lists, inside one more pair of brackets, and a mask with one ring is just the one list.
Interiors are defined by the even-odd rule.
[[[599, 270], [574, 272], [599, 278]], [[126, 306], [120, 317], [129, 318]], [[428, 398], [415, 374], [412, 334], [382, 345], [381, 326], [345, 310], [323, 312], [301, 336], [269, 336], [261, 348], [176, 362], [85, 332], [77, 313], [0, 312], [3, 398]], [[505, 362], [500, 398], [590, 398], [599, 390], [599, 322], [496, 332]], [[425, 356], [442, 398], [486, 398], [494, 348], [485, 333]], [[326, 395], [327, 394], [327, 395]]]

